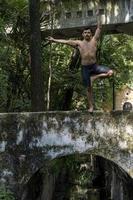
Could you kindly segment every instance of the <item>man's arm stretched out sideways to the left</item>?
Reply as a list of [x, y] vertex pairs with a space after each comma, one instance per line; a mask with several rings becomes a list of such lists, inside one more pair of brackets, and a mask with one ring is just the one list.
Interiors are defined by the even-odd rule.
[[67, 44], [67, 45], [70, 45], [72, 47], [77, 47], [79, 45], [79, 41], [78, 40], [55, 39], [53, 37], [48, 37], [47, 40], [51, 41], [51, 42], [55, 42], [55, 43]]

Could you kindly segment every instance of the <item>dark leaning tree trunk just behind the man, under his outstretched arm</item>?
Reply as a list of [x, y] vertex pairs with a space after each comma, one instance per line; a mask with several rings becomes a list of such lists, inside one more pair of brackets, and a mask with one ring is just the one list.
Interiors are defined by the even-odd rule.
[[[74, 69], [79, 68], [79, 65], [80, 65], [80, 53], [78, 49], [74, 49], [69, 64], [69, 70], [74, 71]], [[73, 97], [73, 87], [68, 88], [65, 92], [64, 101], [62, 103], [62, 110], [71, 109], [72, 97]]]

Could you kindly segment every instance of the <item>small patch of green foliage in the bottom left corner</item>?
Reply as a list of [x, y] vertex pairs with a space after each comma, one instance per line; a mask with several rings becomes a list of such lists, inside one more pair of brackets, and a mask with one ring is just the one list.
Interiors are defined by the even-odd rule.
[[13, 193], [4, 186], [0, 187], [0, 200], [15, 200]]

